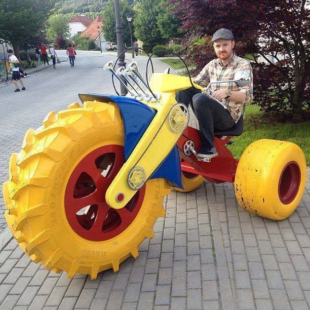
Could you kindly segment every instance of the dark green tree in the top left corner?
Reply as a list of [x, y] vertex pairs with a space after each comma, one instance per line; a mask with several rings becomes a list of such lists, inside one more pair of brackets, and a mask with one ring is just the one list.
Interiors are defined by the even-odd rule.
[[20, 47], [42, 42], [47, 14], [54, 5], [54, 0], [0, 1], [0, 37], [11, 42], [17, 58]]

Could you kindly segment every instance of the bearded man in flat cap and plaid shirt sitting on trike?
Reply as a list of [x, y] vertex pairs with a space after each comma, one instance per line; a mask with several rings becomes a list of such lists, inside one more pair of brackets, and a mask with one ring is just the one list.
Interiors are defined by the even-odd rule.
[[200, 158], [213, 158], [218, 155], [214, 147], [214, 129], [228, 130], [233, 127], [242, 114], [243, 103], [253, 99], [253, 73], [251, 64], [238, 57], [232, 50], [235, 47], [235, 38], [232, 32], [222, 28], [212, 37], [217, 59], [210, 61], [195, 78], [195, 83], [206, 87], [210, 82], [233, 80], [238, 71], [247, 71], [251, 83], [239, 87], [235, 83], [212, 84], [211, 96], [221, 101], [227, 109], [218, 102], [209, 99], [196, 88], [179, 91], [176, 94], [177, 102], [190, 104], [195, 113], [200, 129], [202, 148]]

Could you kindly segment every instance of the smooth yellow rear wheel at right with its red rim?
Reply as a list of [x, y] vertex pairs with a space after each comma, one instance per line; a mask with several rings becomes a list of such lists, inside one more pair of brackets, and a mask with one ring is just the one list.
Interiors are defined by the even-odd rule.
[[273, 220], [297, 208], [306, 182], [306, 162], [294, 143], [262, 139], [250, 144], [238, 163], [235, 193], [240, 206]]

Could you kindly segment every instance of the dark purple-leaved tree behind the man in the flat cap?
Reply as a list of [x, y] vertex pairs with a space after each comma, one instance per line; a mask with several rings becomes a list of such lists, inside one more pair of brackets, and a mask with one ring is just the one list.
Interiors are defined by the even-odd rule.
[[[255, 102], [263, 110], [291, 110], [298, 118], [302, 108], [309, 107], [310, 10], [306, 0], [170, 3], [179, 4], [174, 14], [181, 16], [187, 42], [194, 37], [207, 38], [222, 27], [234, 32], [239, 55], [252, 55]], [[211, 50], [201, 48], [206, 60], [213, 57]], [[258, 61], [259, 56], [263, 62]], [[199, 57], [198, 69], [206, 63], [201, 55], [194, 58]]]

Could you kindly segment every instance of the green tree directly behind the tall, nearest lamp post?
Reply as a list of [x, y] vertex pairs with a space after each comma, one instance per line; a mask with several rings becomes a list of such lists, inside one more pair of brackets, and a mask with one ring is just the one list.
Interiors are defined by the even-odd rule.
[[[128, 5], [128, 2], [126, 0], [120, 0], [120, 14], [121, 14], [121, 22], [123, 26], [123, 38], [124, 42], [127, 46], [131, 45], [130, 40], [130, 29], [127, 22], [127, 15], [131, 14], [133, 15], [133, 9]], [[115, 9], [114, 9], [114, 0], [108, 0], [103, 12], [102, 16], [104, 16], [103, 25], [102, 25], [102, 31], [104, 34], [104, 37], [109, 42], [116, 42], [117, 41], [117, 35], [115, 31]]]

